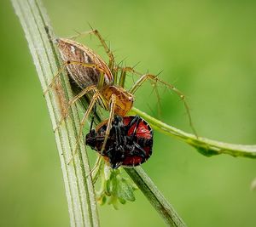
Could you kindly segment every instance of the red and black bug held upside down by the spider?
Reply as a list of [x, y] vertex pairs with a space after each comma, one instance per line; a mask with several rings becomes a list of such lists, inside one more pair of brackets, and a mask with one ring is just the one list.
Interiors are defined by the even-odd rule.
[[85, 143], [99, 152], [113, 168], [136, 167], [152, 154], [153, 130], [140, 116], [114, 116], [108, 140], [101, 153], [108, 120], [90, 129]]

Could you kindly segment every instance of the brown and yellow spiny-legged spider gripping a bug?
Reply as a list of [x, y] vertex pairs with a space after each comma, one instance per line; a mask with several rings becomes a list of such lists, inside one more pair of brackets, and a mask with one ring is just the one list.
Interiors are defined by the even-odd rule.
[[[142, 86], [143, 82], [147, 80], [153, 82], [154, 85], [157, 82], [160, 82], [167, 88], [172, 89], [172, 91], [179, 96], [179, 98], [183, 101], [183, 104], [188, 113], [190, 126], [193, 128], [189, 113], [189, 106], [187, 105], [185, 96], [177, 88], [172, 86], [172, 84], [160, 80], [158, 77], [152, 74], [141, 74], [135, 71], [132, 67], [119, 67], [119, 65], [115, 65], [113, 53], [108, 48], [108, 45], [105, 43], [99, 32], [92, 30], [84, 32], [80, 35], [87, 34], [94, 34], [102, 43], [102, 47], [108, 54], [108, 65], [90, 48], [75, 42], [73, 39], [56, 39], [56, 43], [60, 50], [61, 58], [64, 61], [64, 64], [55, 75], [52, 83], [54, 83], [56, 78], [60, 76], [61, 71], [66, 68], [73, 82], [75, 82], [81, 90], [79, 94], [77, 94], [68, 102], [68, 106], [73, 105], [84, 95], [88, 95], [90, 97], [90, 104], [88, 105], [88, 108], [85, 111], [79, 125], [79, 134], [75, 148], [73, 150], [73, 156], [77, 151], [79, 141], [82, 137], [84, 123], [88, 119], [93, 106], [98, 104], [105, 110], [109, 111], [108, 121], [105, 123], [105, 138], [102, 142], [100, 151], [102, 154], [107, 144], [108, 136], [111, 133], [110, 131], [114, 115], [125, 116], [131, 110], [134, 101], [134, 94], [137, 92], [137, 89]], [[133, 86], [128, 90], [124, 88], [125, 77], [127, 73], [132, 73], [139, 76], [137, 82], [135, 82]], [[49, 87], [50, 86], [51, 84]], [[64, 119], [65, 116], [62, 118]], [[63, 119], [61, 119], [60, 123], [63, 121]]]

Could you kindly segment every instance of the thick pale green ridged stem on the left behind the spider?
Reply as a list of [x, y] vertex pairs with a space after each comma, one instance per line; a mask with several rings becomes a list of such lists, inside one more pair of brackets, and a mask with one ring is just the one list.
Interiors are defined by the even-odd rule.
[[67, 164], [73, 156], [79, 130], [77, 107], [73, 105], [67, 120], [60, 126], [57, 125], [63, 116], [63, 105], [67, 105], [66, 100], [71, 99], [72, 92], [67, 74], [64, 73], [59, 88], [48, 87], [60, 67], [51, 39], [54, 34], [49, 26], [48, 16], [39, 0], [12, 0], [12, 3], [25, 31], [43, 91], [48, 90], [45, 92], [45, 99], [53, 128], [57, 128], [55, 140], [61, 160], [71, 226], [99, 226], [94, 188], [91, 178], [87, 177], [90, 175], [90, 167], [82, 141], [79, 143], [79, 155], [75, 156], [73, 164]]

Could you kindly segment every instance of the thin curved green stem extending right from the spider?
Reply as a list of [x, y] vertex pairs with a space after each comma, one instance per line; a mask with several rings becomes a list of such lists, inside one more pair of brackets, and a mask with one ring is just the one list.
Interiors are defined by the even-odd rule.
[[196, 137], [194, 134], [185, 133], [180, 129], [169, 126], [164, 122], [160, 122], [154, 117], [148, 116], [145, 112], [134, 107], [132, 108], [131, 114], [142, 116], [154, 129], [183, 140], [187, 144], [195, 147], [195, 149], [204, 156], [227, 154], [230, 156], [256, 158], [256, 145], [233, 145], [212, 139]]

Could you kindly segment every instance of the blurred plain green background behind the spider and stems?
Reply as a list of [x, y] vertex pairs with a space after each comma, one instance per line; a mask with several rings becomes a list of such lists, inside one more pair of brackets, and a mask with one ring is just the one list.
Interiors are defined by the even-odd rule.
[[[140, 62], [142, 72], [163, 70], [160, 77], [189, 97], [201, 136], [256, 144], [255, 1], [44, 0], [44, 5], [58, 36], [87, 31], [89, 22], [111, 42], [117, 60]], [[1, 1], [0, 29], [0, 226], [69, 226], [48, 111], [7, 0]], [[150, 94], [150, 87], [141, 89], [135, 106], [159, 116]], [[191, 131], [174, 94], [163, 92], [161, 105], [160, 119]], [[189, 226], [256, 225], [256, 191], [250, 190], [256, 160], [201, 156], [156, 132], [154, 155], [143, 168]], [[102, 226], [165, 226], [139, 191], [136, 202], [118, 211], [105, 205], [99, 213]]]

